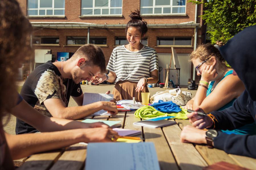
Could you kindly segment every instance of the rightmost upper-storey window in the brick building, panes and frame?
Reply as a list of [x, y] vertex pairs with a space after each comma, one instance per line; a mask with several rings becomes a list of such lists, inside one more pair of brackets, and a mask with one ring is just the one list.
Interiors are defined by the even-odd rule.
[[141, 14], [185, 14], [186, 0], [140, 0]]

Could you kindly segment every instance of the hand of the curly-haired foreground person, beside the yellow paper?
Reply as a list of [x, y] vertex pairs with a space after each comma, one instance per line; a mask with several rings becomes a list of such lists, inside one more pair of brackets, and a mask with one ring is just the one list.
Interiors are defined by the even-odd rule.
[[83, 132], [85, 142], [112, 142], [118, 139], [119, 135], [111, 128], [90, 128]]

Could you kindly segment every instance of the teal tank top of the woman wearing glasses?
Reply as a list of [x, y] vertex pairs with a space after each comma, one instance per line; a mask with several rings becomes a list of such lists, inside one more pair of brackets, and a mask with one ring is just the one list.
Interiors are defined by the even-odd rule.
[[[228, 71], [223, 78], [225, 78], [226, 76], [230, 75], [233, 73], [233, 70], [230, 70]], [[223, 78], [221, 80], [223, 80]], [[221, 81], [220, 80], [220, 81]], [[206, 97], [212, 92], [212, 86], [214, 84], [215, 81], [212, 81], [209, 86], [208, 86], [208, 90], [206, 92]], [[217, 86], [218, 84], [216, 84]], [[230, 106], [233, 105], [235, 99], [233, 99], [232, 101], [230, 101], [229, 103], [227, 103], [226, 105], [224, 105], [223, 107], [221, 107], [218, 111], [221, 111], [221, 110], [224, 110]], [[246, 135], [246, 134], [250, 134], [250, 135], [255, 135], [256, 134], [256, 124], [255, 122], [252, 123], [252, 124], [247, 124], [241, 128], [237, 128], [237, 129], [234, 129], [232, 131], [229, 131], [229, 130], [222, 130], [224, 133], [227, 133], [227, 134], [239, 134], [239, 135]]]

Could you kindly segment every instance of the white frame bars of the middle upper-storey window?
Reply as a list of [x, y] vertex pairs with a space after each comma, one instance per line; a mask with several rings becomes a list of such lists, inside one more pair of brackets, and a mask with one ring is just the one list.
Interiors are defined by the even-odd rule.
[[[82, 8], [82, 0], [81, 0], [81, 13], [82, 17], [85, 16], [122, 16], [123, 15], [123, 0], [122, 0], [122, 7], [110, 7], [111, 0], [108, 0], [108, 7], [95, 7], [95, 0], [93, 0], [93, 7], [91, 8]], [[93, 14], [82, 14], [83, 9], [92, 9]], [[101, 14], [94, 14], [94, 11], [97, 9], [101, 9]], [[102, 14], [102, 9], [108, 9], [108, 14]], [[110, 14], [110, 9], [121, 9], [121, 14]]]

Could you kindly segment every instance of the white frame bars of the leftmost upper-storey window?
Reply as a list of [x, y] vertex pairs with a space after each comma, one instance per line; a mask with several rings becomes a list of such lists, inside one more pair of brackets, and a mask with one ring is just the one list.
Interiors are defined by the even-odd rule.
[[[37, 0], [37, 8], [28, 8], [28, 1], [27, 0], [27, 16], [28, 17], [65, 17], [65, 0], [64, 0], [64, 8], [54, 8], [54, 1], [55, 0], [52, 0], [52, 7], [49, 7], [49, 8], [40, 8], [40, 1], [43, 1], [43, 0]], [[37, 15], [28, 15], [28, 10], [37, 10]], [[40, 15], [39, 11], [40, 10], [45, 10], [45, 15]], [[52, 15], [47, 15], [47, 11], [46, 10], [52, 10]], [[64, 10], [64, 15], [54, 15], [54, 11], [55, 10]]]

